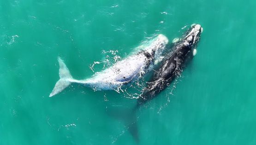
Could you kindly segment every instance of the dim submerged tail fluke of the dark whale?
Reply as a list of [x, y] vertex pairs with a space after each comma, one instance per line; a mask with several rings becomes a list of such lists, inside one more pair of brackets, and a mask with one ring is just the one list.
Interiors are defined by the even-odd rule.
[[110, 107], [107, 110], [107, 114], [117, 120], [124, 122], [125, 127], [131, 133], [133, 139], [139, 143], [136, 109], [137, 108], [121, 109], [118, 107]]

